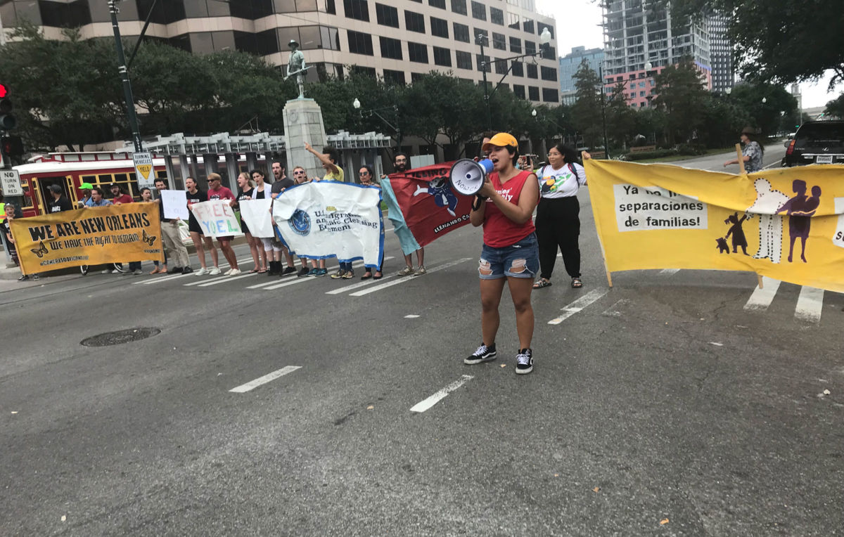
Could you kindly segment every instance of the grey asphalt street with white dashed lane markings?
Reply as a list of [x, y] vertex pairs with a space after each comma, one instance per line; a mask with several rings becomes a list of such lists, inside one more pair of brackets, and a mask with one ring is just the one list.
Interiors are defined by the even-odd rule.
[[[844, 533], [844, 296], [807, 317], [787, 283], [750, 309], [749, 273], [610, 289], [581, 192], [585, 285], [558, 260], [533, 293], [528, 375], [506, 291], [498, 358], [463, 364], [477, 228], [406, 278], [388, 232], [379, 282], [0, 282], [0, 534]], [[80, 344], [141, 327], [161, 331]]]

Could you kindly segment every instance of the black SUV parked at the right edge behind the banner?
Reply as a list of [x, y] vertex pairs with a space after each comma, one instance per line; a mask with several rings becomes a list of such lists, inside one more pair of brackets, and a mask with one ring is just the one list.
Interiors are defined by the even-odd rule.
[[807, 121], [788, 143], [783, 166], [844, 164], [844, 121]]

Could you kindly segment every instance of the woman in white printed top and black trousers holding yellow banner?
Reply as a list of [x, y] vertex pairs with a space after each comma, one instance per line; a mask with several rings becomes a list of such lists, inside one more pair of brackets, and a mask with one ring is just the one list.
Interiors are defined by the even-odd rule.
[[563, 254], [565, 271], [571, 287], [583, 287], [580, 272], [580, 203], [577, 191], [586, 185], [586, 170], [577, 164], [574, 149], [558, 143], [548, 152], [549, 164], [540, 169], [539, 205], [536, 210], [536, 238], [539, 243], [539, 279], [534, 289], [549, 287], [557, 260], [557, 248]]

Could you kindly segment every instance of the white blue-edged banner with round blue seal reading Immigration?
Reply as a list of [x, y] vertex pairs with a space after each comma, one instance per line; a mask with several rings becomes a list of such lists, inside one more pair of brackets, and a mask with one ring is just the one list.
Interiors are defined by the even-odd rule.
[[284, 242], [311, 259], [337, 257], [378, 266], [384, 250], [381, 191], [333, 181], [291, 186], [273, 202]]

